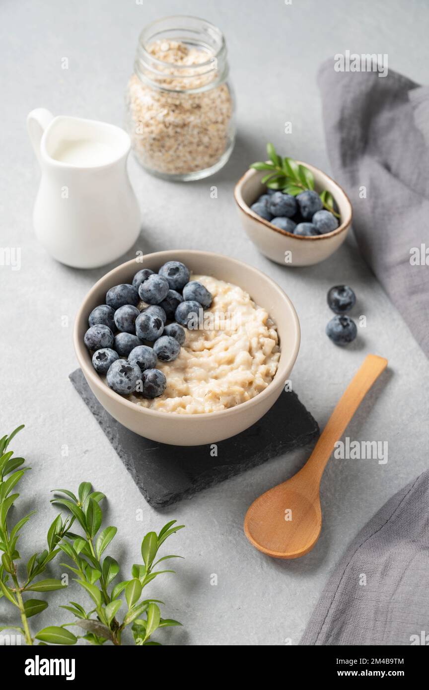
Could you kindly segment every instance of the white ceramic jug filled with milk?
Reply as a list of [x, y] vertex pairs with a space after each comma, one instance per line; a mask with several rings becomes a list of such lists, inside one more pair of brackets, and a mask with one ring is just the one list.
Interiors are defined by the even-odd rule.
[[104, 266], [123, 255], [140, 231], [140, 212], [126, 170], [130, 137], [121, 128], [37, 108], [28, 134], [41, 166], [34, 206], [37, 238], [59, 262]]

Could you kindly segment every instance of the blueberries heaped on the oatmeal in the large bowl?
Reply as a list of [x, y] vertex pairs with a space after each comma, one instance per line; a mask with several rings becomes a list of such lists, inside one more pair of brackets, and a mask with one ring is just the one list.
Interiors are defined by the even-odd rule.
[[[196, 327], [212, 295], [196, 280], [189, 280], [185, 264], [169, 261], [154, 273], [137, 271], [132, 284], [115, 285], [106, 293], [106, 304], [96, 306], [83, 338], [92, 354], [92, 365], [106, 375], [110, 388], [120, 395], [139, 390], [154, 398], [166, 390], [167, 380], [157, 368], [172, 362], [185, 342], [183, 326]], [[142, 311], [137, 304], [146, 302]], [[170, 323], [168, 323], [170, 322]]]

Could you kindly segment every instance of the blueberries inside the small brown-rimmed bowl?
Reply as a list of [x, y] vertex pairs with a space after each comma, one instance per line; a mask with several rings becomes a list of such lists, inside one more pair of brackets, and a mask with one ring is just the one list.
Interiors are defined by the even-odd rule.
[[250, 208], [261, 218], [293, 235], [326, 235], [338, 227], [335, 215], [323, 208], [321, 198], [312, 190], [292, 197], [267, 189], [266, 194]]

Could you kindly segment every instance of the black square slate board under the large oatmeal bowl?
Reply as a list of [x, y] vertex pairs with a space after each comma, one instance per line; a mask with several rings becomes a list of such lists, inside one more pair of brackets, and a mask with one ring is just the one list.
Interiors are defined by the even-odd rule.
[[129, 431], [109, 415], [94, 397], [83, 373], [70, 380], [117, 451], [134, 482], [154, 508], [163, 508], [250, 467], [305, 446], [319, 435], [319, 426], [296, 393], [282, 393], [257, 424], [210, 446], [169, 446]]

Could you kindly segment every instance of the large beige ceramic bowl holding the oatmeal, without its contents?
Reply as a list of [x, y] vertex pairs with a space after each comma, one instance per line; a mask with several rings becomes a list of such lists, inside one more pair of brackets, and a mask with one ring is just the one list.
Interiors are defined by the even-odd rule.
[[[194, 250], [172, 250], [132, 259], [106, 273], [86, 295], [74, 322], [74, 349], [83, 375], [97, 400], [115, 420], [141, 436], [176, 446], [196, 446], [221, 441], [255, 424], [276, 402], [290, 376], [300, 342], [299, 321], [295, 308], [283, 290], [256, 268], [221, 254]], [[269, 386], [252, 400], [220, 412], [183, 415], [141, 407], [114, 393], [101, 380], [90, 354], [83, 344], [88, 316], [98, 304], [105, 303], [106, 292], [114, 285], [130, 283], [141, 268], [158, 270], [167, 261], [181, 261], [192, 273], [213, 275], [239, 285], [250, 293], [259, 306], [266, 308], [280, 338], [279, 368]]]

